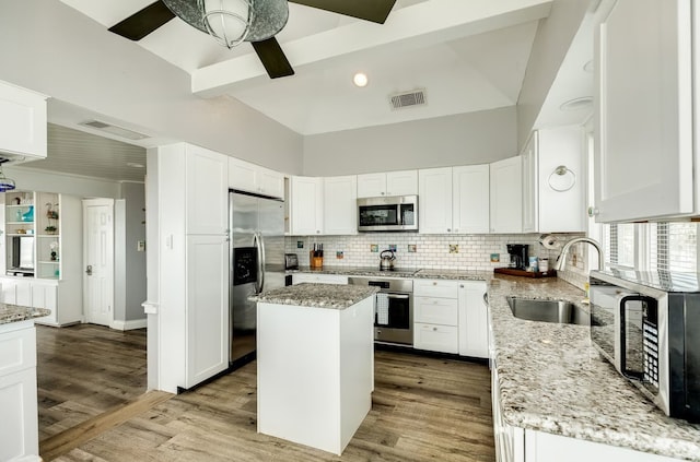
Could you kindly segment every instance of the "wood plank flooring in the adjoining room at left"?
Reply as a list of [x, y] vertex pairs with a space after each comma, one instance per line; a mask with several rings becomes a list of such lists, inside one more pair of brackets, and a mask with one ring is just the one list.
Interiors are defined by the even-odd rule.
[[145, 392], [145, 329], [36, 327], [39, 440]]

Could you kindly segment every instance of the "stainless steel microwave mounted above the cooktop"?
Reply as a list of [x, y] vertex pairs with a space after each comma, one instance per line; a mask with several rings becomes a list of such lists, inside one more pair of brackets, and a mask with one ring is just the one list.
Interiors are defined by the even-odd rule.
[[358, 199], [359, 232], [417, 232], [418, 196]]

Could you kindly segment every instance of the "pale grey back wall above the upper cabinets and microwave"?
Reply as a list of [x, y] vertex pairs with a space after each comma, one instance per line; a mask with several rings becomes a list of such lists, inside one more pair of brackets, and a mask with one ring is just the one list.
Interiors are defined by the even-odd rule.
[[308, 135], [304, 175], [486, 164], [517, 154], [515, 107]]

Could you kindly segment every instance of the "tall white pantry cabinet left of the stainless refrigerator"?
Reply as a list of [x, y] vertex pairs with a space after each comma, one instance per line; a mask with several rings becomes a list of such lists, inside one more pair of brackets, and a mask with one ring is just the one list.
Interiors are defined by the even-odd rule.
[[228, 156], [158, 149], [159, 388], [176, 392], [229, 367]]

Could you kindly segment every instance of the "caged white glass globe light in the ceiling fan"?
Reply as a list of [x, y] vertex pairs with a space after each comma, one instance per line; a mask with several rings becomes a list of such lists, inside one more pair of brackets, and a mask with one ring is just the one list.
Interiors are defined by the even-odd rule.
[[250, 32], [253, 0], [197, 0], [209, 35], [226, 48], [241, 44]]

